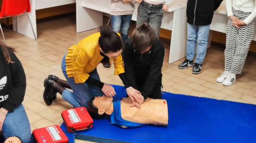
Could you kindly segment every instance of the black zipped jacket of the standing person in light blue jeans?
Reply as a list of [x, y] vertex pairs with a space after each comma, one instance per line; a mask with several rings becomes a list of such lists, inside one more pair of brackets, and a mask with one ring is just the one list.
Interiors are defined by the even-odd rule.
[[209, 25], [213, 13], [223, 0], [188, 0], [187, 22], [192, 25]]

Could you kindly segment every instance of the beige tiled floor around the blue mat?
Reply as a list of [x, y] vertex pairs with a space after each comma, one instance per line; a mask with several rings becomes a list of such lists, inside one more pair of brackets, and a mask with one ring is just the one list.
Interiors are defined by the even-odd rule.
[[[59, 94], [55, 102], [47, 107], [42, 96], [44, 90], [43, 80], [48, 74], [64, 79], [60, 67], [64, 53], [77, 41], [98, 31], [98, 29], [93, 29], [83, 33], [76, 33], [75, 16], [40, 22], [37, 28], [37, 41], [4, 29], [7, 44], [17, 49], [16, 54], [21, 63], [23, 63], [26, 73], [27, 89], [23, 104], [32, 130], [62, 123], [61, 111], [72, 107], [61, 99]], [[168, 64], [169, 43], [164, 43], [164, 45], [164, 91], [256, 104], [255, 56], [248, 56], [244, 71], [242, 75], [237, 76], [235, 84], [225, 87], [215, 82], [215, 79], [223, 71], [223, 48], [212, 46], [208, 49], [203, 71], [199, 75], [193, 75], [191, 68], [186, 70], [177, 68], [178, 64], [184, 59]], [[104, 68], [100, 64], [98, 72], [103, 82], [122, 85], [119, 77], [113, 74], [113, 66]], [[76, 140], [76, 142], [85, 141]]]

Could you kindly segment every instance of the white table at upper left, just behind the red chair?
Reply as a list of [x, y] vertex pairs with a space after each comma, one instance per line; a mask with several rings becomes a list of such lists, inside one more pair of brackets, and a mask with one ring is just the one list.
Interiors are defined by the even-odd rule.
[[[43, 8], [62, 6], [65, 4], [75, 3], [75, 0], [30, 0], [30, 17], [32, 25], [37, 36], [37, 17], [35, 16], [35, 10], [41, 10]], [[18, 22], [18, 33], [28, 36], [34, 39], [33, 31], [29, 22], [28, 15], [20, 15]], [[16, 31], [17, 17], [12, 17], [12, 24], [14, 31]]]

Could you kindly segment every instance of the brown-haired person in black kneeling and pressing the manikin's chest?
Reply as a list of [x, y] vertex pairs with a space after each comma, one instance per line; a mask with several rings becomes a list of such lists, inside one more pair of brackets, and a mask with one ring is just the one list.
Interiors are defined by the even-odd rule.
[[146, 98], [161, 99], [161, 67], [164, 46], [146, 23], [138, 26], [125, 42], [123, 52], [127, 95], [140, 104]]

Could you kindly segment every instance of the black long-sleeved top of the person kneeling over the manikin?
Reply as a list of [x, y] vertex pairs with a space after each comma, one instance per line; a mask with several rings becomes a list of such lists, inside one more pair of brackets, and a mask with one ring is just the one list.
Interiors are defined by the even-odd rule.
[[128, 38], [123, 52], [125, 87], [132, 86], [139, 90], [138, 83], [142, 84], [140, 92], [145, 99], [152, 94], [157, 84], [161, 84], [161, 68], [164, 61], [164, 46], [158, 39], [154, 41], [150, 51], [137, 53], [131, 38]]

